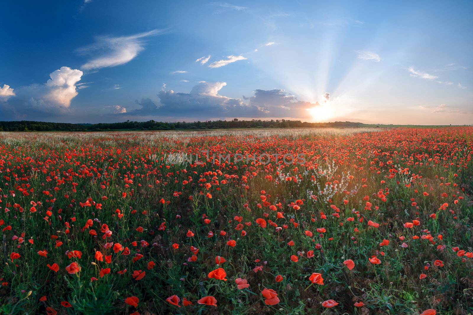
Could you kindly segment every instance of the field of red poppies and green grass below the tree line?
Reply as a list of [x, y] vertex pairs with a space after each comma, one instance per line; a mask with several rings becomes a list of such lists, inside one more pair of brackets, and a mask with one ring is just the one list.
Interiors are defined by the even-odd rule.
[[471, 314], [473, 128], [0, 133], [0, 314]]

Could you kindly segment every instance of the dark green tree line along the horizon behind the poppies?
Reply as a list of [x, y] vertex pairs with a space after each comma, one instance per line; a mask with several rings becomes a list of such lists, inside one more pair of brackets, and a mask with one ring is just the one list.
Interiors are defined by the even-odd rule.
[[44, 121], [0, 121], [0, 131], [109, 131], [109, 130], [195, 130], [195, 129], [229, 129], [229, 128], [314, 128], [314, 127], [360, 127], [359, 122], [305, 122], [300, 120], [208, 120], [193, 122], [161, 121], [124, 121], [98, 124], [69, 124]]

